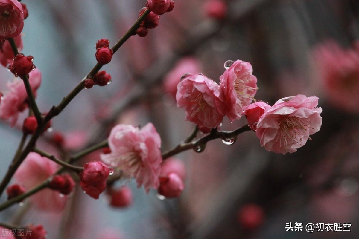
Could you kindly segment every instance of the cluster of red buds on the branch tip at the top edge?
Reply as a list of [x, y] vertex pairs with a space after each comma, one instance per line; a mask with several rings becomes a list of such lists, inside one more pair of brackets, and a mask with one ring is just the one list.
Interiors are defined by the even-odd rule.
[[148, 29], [156, 28], [159, 24], [160, 15], [172, 11], [174, 2], [172, 0], [148, 0], [146, 8], [140, 10], [140, 16], [149, 9], [151, 12], [142, 21], [140, 27], [137, 28], [136, 34], [140, 37], [145, 37], [148, 34]]

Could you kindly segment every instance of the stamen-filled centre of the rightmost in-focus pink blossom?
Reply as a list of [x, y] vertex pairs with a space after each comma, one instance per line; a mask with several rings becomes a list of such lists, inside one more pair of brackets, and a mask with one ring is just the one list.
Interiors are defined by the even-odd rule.
[[302, 137], [309, 135], [311, 121], [298, 117], [285, 117], [279, 123], [279, 146], [285, 148], [288, 144], [302, 146]]

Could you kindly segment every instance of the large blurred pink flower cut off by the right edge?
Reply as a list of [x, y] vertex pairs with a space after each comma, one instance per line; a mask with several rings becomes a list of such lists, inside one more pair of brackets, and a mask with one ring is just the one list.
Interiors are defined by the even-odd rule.
[[[358, 46], [359, 41], [354, 44]], [[314, 56], [331, 104], [358, 113], [359, 48], [342, 49], [336, 42], [330, 41], [317, 47]]]

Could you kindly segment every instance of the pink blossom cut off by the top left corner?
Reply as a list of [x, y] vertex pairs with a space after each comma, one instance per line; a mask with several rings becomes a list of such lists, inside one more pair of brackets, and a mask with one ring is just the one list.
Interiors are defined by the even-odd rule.
[[24, 27], [24, 12], [18, 0], [0, 0], [0, 38], [17, 37]]

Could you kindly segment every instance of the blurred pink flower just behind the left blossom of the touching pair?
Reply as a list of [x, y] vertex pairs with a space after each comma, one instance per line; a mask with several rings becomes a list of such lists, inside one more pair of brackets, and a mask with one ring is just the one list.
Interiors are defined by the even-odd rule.
[[184, 57], [176, 63], [171, 71], [164, 76], [163, 87], [167, 94], [176, 98], [177, 85], [181, 76], [187, 72], [200, 72], [200, 62], [194, 57]]

